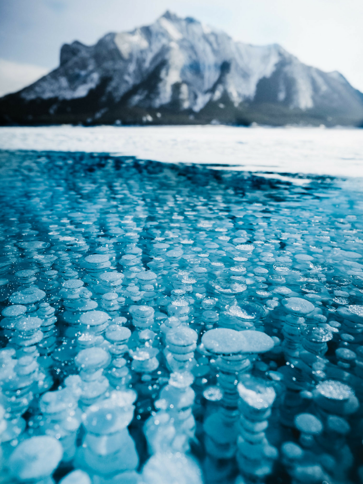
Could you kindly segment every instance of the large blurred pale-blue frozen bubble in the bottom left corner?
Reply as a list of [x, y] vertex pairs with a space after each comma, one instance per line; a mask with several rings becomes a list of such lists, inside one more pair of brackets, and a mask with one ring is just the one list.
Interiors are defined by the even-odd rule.
[[20, 481], [41, 480], [52, 474], [62, 455], [62, 445], [54, 437], [30, 437], [20, 442], [11, 454], [9, 469]]

